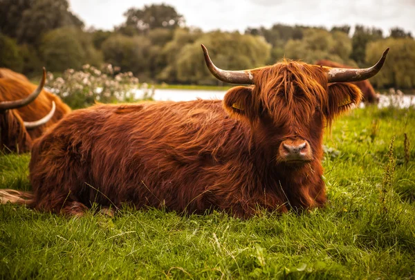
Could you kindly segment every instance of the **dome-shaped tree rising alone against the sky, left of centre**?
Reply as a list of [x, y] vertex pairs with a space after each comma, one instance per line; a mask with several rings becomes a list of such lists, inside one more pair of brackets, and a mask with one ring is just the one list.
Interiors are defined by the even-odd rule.
[[142, 9], [130, 8], [124, 13], [126, 21], [120, 28], [124, 35], [146, 34], [149, 30], [156, 28], [174, 29], [182, 26], [185, 19], [176, 12], [172, 6], [152, 4]]

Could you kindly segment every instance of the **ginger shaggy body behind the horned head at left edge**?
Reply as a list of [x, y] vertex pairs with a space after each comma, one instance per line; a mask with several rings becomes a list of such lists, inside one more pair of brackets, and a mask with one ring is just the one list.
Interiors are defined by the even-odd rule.
[[[19, 86], [19, 90], [2, 93], [1, 100], [12, 101], [24, 99], [36, 89], [35, 84], [32, 84], [27, 77], [14, 71], [11, 71], [8, 68], [0, 68], [0, 79], [1, 78], [10, 78], [13, 80], [18, 80], [22, 85], [24, 85]], [[46, 115], [52, 109], [52, 102], [55, 102], [56, 105], [55, 114], [48, 122], [46, 122], [46, 124], [28, 131], [28, 133], [33, 139], [41, 136], [42, 133], [44, 133], [44, 131], [46, 131], [48, 127], [58, 122], [67, 113], [70, 113], [71, 108], [64, 102], [62, 102], [62, 100], [57, 95], [54, 95], [53, 93], [50, 93], [43, 89], [39, 96], [33, 102], [30, 102], [30, 104], [28, 104], [27, 106], [23, 106], [17, 109], [21, 118], [28, 122], [32, 122], [35, 120], [39, 120], [40, 118], [43, 118], [43, 116]]]

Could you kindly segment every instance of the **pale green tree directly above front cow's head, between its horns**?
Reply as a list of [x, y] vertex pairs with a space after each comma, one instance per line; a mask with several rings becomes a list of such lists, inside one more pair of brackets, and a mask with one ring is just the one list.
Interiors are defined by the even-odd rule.
[[351, 40], [341, 31], [309, 28], [304, 30], [301, 40], [288, 40], [285, 48], [285, 57], [301, 59], [313, 64], [319, 59], [330, 59], [334, 62], [349, 64]]

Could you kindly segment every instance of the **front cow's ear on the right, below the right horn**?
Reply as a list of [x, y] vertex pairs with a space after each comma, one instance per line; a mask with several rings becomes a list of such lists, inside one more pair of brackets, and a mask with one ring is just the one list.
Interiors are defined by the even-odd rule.
[[338, 83], [329, 86], [329, 107], [326, 114], [329, 120], [358, 106], [362, 100], [362, 91], [354, 84]]

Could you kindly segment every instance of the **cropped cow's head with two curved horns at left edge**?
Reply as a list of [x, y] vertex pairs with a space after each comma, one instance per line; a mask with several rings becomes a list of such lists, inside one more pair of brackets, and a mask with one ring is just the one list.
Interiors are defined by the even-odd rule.
[[[42, 80], [33, 93], [29, 92], [30, 94], [21, 100], [0, 101], [0, 151], [29, 151], [32, 139], [27, 130], [39, 127], [53, 117], [55, 113], [55, 102], [52, 102], [50, 112], [44, 118], [35, 122], [24, 122], [19, 112], [15, 110], [35, 100], [37, 95], [42, 92], [45, 79], [46, 71], [44, 69]], [[12, 93], [16, 91], [27, 91], [27, 88], [19, 80], [0, 78], [0, 96], [12, 96]]]

